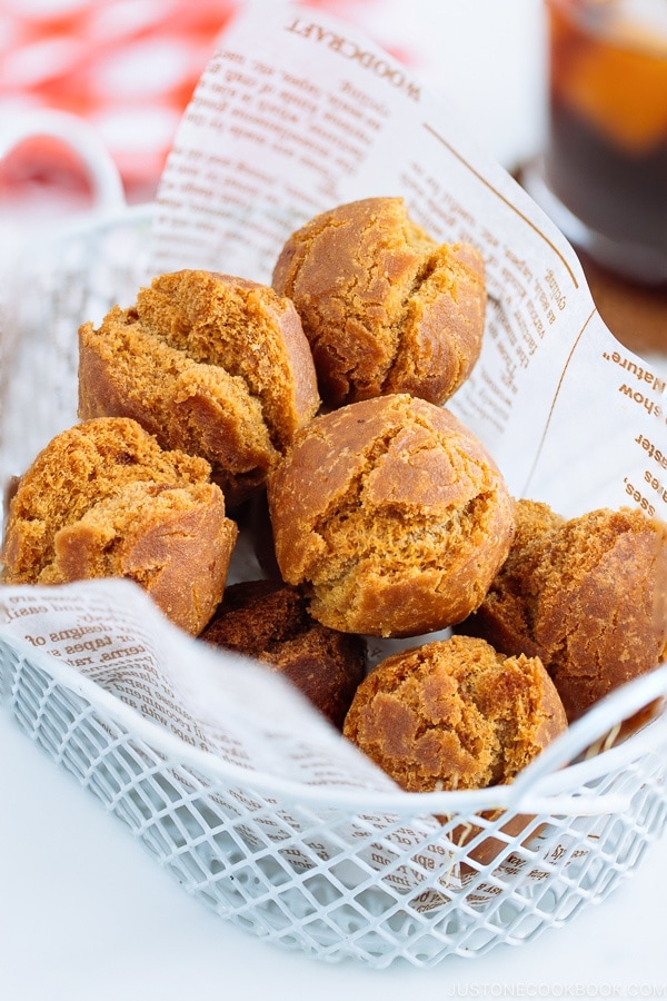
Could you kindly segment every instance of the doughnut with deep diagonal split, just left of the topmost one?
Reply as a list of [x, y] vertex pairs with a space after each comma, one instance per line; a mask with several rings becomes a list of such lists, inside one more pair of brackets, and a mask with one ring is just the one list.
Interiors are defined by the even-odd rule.
[[263, 485], [319, 404], [293, 305], [253, 281], [160, 275], [79, 330], [79, 416], [131, 417], [165, 448], [202, 456], [230, 506]]

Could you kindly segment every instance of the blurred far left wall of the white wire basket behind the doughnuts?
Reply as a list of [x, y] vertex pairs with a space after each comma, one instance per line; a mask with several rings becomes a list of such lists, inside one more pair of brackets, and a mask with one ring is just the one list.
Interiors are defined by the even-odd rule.
[[[107, 207], [40, 234], [0, 301], [0, 476], [26, 468], [77, 420], [77, 328], [128, 305], [147, 277], [152, 206]], [[11, 377], [10, 377], [11, 376]], [[30, 419], [27, 418], [30, 415]]]

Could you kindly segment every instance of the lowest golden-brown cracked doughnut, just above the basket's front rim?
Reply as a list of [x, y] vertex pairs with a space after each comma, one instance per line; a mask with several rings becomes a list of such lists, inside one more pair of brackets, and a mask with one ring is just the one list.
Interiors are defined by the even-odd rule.
[[452, 636], [378, 664], [344, 734], [401, 789], [430, 792], [509, 783], [566, 729], [539, 658]]

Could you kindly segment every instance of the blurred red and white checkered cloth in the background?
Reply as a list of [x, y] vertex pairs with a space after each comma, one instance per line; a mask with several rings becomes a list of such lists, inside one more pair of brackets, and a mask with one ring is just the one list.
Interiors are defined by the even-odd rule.
[[[82, 117], [113, 157], [128, 200], [148, 200], [216, 39], [242, 2], [0, 0], [0, 117], [41, 108]], [[378, 0], [308, 6], [355, 20]], [[1, 180], [19, 195], [84, 182], [46, 140], [17, 152]]]

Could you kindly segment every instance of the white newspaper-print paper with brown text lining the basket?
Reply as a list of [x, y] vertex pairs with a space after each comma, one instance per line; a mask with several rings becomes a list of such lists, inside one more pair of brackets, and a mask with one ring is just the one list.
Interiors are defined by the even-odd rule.
[[[202, 267], [269, 281], [297, 226], [336, 204], [377, 195], [401, 195], [435, 238], [468, 240], [485, 256], [482, 354], [448, 406], [494, 454], [510, 490], [566, 516], [634, 505], [665, 518], [660, 363], [615, 340], [569, 245], [475, 146], [452, 110], [436, 106], [402, 66], [328, 16], [251, 4], [221, 36], [163, 172], [146, 277]], [[88, 318], [101, 317], [79, 319]], [[71, 379], [73, 328], [69, 351], [63, 370]], [[33, 389], [21, 384], [26, 409]], [[17, 442], [6, 444], [20, 453]], [[20, 472], [4, 468], [4, 479]], [[239, 551], [233, 574], [257, 575], [248, 553]], [[0, 630], [40, 656], [73, 665], [186, 743], [248, 769], [249, 777], [255, 771], [331, 790], [395, 790], [279, 678], [179, 634], [128, 582], [2, 587]], [[377, 642], [374, 658], [391, 648]], [[279, 811], [267, 831], [277, 842], [281, 816], [297, 825]], [[358, 817], [378, 832], [389, 820], [381, 811]], [[411, 904], [437, 908], [466, 881], [454, 850], [444, 849], [444, 831], [440, 820], [425, 815], [379, 836], [366, 861], [408, 894], [435, 871], [441, 890], [418, 893]], [[350, 821], [347, 833], [354, 842], [367, 832]], [[532, 841], [539, 844], [539, 836]], [[397, 865], [406, 844], [415, 845], [414, 865]], [[548, 870], [549, 853], [542, 861]], [[312, 864], [300, 852], [290, 862]], [[514, 852], [498, 871], [545, 876]], [[469, 902], [491, 900], [497, 888], [487, 889], [477, 883]]]

